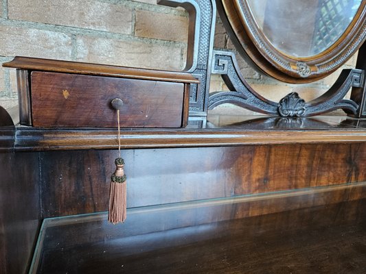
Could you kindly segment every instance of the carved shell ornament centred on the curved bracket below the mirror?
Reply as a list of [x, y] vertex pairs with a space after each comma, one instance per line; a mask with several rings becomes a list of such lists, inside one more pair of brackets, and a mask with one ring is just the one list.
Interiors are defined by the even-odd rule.
[[297, 92], [286, 95], [278, 104], [278, 113], [283, 117], [304, 116], [305, 111], [305, 100], [301, 99]]

